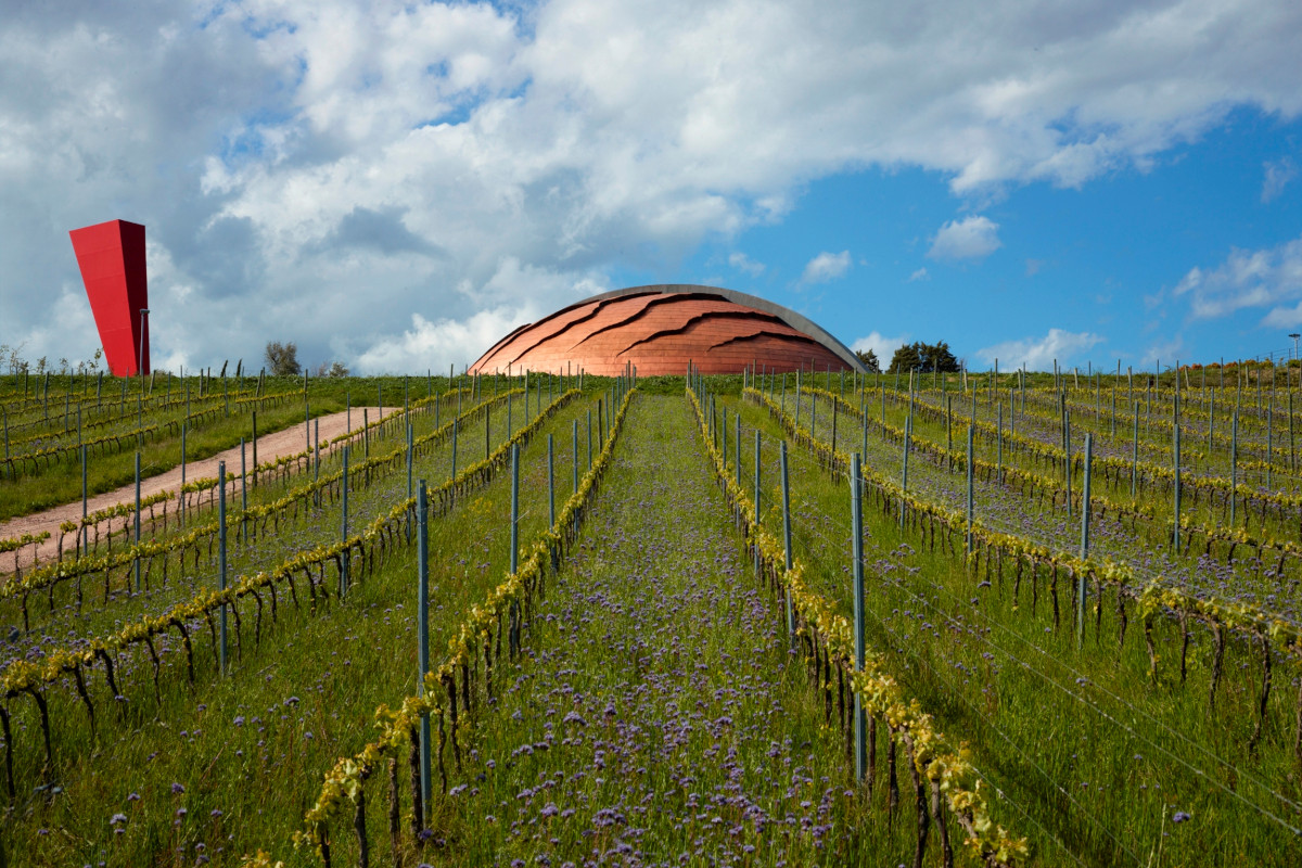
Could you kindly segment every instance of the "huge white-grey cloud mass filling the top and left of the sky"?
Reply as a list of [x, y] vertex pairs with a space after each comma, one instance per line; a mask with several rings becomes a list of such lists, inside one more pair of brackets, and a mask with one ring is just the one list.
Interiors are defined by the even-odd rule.
[[[413, 314], [469, 328], [681, 262], [837, 172], [1079, 186], [1236, 105], [1302, 112], [1297, 7], [1272, 0], [9, 7], [0, 323], [36, 354], [94, 351], [51, 299], [79, 277], [61, 233], [112, 217], [169, 260], [156, 358], [279, 338], [355, 363]], [[949, 239], [971, 220], [935, 255], [988, 252], [993, 224]]]

